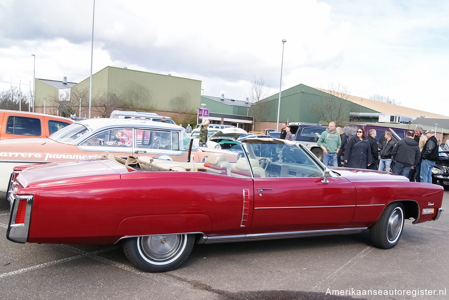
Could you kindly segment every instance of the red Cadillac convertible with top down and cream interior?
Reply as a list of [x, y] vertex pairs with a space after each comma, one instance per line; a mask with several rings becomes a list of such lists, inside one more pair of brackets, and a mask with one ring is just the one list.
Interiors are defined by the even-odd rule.
[[7, 238], [17, 243], [121, 242], [141, 270], [173, 270], [194, 243], [351, 234], [398, 243], [404, 220], [435, 221], [443, 187], [400, 175], [327, 168], [305, 146], [246, 139], [237, 161], [104, 157], [13, 174]]

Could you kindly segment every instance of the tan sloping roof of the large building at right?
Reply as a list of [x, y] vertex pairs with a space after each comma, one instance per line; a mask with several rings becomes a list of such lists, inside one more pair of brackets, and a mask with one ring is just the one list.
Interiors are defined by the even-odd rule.
[[[327, 93], [332, 94], [331, 91], [328, 91], [328, 90], [325, 90], [322, 88], [318, 88], [318, 87], [315, 87], [315, 88], [317, 90], [325, 91]], [[407, 116], [407, 117], [412, 117], [412, 118], [417, 118], [417, 117], [424, 115], [426, 118], [449, 119], [448, 116], [440, 115], [437, 113], [429, 113], [429, 112], [419, 110], [419, 109], [411, 109], [411, 108], [408, 108], [405, 106], [385, 103], [385, 102], [376, 101], [376, 100], [372, 100], [372, 99], [362, 98], [359, 96], [348, 95], [347, 99], [353, 103], [359, 104], [359, 105], [367, 107], [369, 109], [374, 109], [375, 111], [378, 111], [380, 113], [392, 113], [392, 114], [397, 114], [397, 115]], [[438, 122], [436, 122], [436, 123], [438, 123]]]

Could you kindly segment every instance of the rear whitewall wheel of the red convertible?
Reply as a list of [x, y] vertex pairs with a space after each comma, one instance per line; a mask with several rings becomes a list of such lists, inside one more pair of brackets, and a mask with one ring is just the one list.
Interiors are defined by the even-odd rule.
[[123, 241], [123, 251], [137, 268], [146, 272], [176, 269], [189, 257], [194, 235], [149, 235]]

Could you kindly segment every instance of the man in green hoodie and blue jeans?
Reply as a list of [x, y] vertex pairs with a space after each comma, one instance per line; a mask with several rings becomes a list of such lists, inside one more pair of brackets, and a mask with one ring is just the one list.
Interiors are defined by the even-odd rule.
[[318, 147], [323, 149], [323, 164], [326, 166], [338, 166], [337, 153], [340, 150], [341, 138], [335, 130], [335, 122], [329, 123], [329, 128], [323, 131], [317, 144]]

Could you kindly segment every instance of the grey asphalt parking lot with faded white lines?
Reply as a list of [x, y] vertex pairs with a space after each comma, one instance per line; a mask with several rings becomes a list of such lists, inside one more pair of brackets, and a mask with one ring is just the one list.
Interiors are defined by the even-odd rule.
[[158, 274], [137, 270], [120, 245], [12, 243], [4, 197], [0, 299], [449, 299], [447, 189], [440, 219], [406, 220], [389, 250], [374, 248], [369, 232], [195, 245], [179, 269]]

